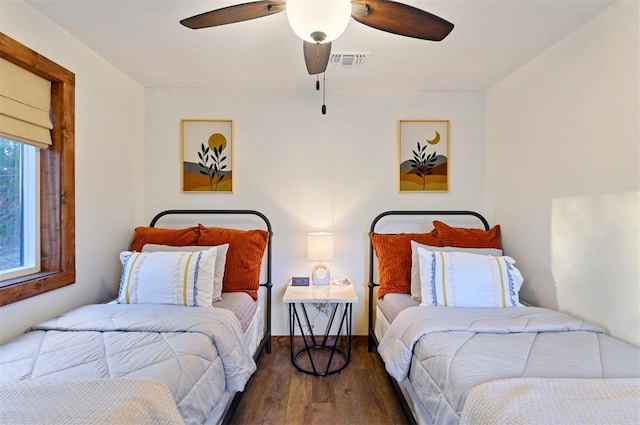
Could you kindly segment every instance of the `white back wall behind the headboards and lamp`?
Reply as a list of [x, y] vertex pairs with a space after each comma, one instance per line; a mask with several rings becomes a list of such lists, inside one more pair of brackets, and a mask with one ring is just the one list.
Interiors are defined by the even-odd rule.
[[[327, 92], [313, 90], [147, 89], [146, 222], [168, 208], [253, 208], [273, 225], [275, 335], [288, 333], [282, 294], [292, 275], [308, 275], [306, 233], [335, 234], [334, 276], [355, 285], [354, 333], [366, 334], [366, 260], [371, 220], [388, 209], [468, 208], [483, 203], [484, 94], [480, 92]], [[232, 119], [233, 194], [181, 193], [180, 120]], [[451, 121], [448, 193], [400, 194], [400, 119]]]

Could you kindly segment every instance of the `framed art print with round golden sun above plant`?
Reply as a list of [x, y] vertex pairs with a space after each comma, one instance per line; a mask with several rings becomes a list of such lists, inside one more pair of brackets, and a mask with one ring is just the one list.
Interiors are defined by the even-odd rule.
[[183, 119], [182, 191], [233, 192], [233, 121]]

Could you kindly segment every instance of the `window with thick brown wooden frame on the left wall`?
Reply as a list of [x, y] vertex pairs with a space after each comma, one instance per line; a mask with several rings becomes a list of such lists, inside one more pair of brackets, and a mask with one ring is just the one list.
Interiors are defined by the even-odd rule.
[[[19, 159], [16, 151], [12, 152], [10, 157], [14, 161], [11, 165], [12, 171], [15, 172], [16, 167], [21, 169], [21, 172], [14, 176], [23, 179], [21, 188], [18, 189], [15, 183], [12, 183], [14, 187], [7, 188], [20, 195], [15, 198], [13, 207], [19, 206], [21, 209], [17, 215], [19, 218], [14, 218], [19, 220], [20, 229], [19, 231], [14, 229], [14, 231], [22, 238], [21, 246], [17, 251], [15, 251], [16, 248], [7, 248], [14, 250], [13, 255], [19, 252], [20, 259], [14, 258], [13, 264], [16, 261], [24, 262], [29, 259], [28, 251], [31, 243], [29, 240], [35, 241], [33, 243], [36, 244], [31, 247], [31, 250], [35, 250], [33, 262], [36, 269], [23, 270], [24, 274], [21, 276], [0, 278], [0, 306], [2, 306], [75, 282], [75, 75], [2, 32], [0, 32], [0, 58], [50, 82], [50, 118], [53, 122], [51, 131], [46, 131], [51, 137], [51, 145], [46, 149], [25, 148], [26, 145], [12, 138], [3, 139], [0, 143], [2, 149], [11, 146], [12, 149], [20, 151]], [[34, 158], [34, 154], [39, 159]], [[4, 161], [5, 158], [1, 160]], [[23, 172], [30, 166], [35, 167], [36, 177], [33, 183], [29, 183], [28, 179], [23, 177]], [[7, 167], [7, 171], [9, 168]], [[4, 182], [4, 177], [2, 179], [0, 185]], [[33, 185], [32, 190], [39, 188], [39, 195], [29, 192], [30, 185]], [[24, 196], [25, 193], [27, 196]], [[29, 204], [28, 198], [39, 202], [40, 205]], [[29, 222], [28, 214], [25, 213], [28, 211], [35, 213], [33, 220], [39, 219], [39, 225]], [[4, 213], [1, 206], [0, 213]], [[33, 235], [29, 235], [29, 228], [36, 230]], [[0, 236], [5, 237], [4, 234]], [[38, 238], [40, 239], [39, 249], [37, 248]], [[4, 239], [1, 241], [3, 251], [0, 254], [2, 257], [0, 261], [3, 261]], [[25, 246], [27, 253], [25, 253]], [[8, 257], [9, 254], [6, 256]], [[39, 270], [37, 270], [38, 265]], [[0, 268], [5, 267], [0, 266]]]

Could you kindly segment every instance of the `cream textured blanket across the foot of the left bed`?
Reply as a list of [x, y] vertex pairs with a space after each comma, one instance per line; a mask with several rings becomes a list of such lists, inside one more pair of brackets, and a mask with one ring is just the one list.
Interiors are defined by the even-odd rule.
[[163, 383], [131, 378], [0, 382], [0, 423], [184, 424]]

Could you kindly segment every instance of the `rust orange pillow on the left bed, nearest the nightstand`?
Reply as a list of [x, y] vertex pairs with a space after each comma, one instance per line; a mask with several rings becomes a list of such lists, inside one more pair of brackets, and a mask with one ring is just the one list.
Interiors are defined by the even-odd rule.
[[229, 244], [227, 261], [222, 279], [223, 292], [246, 292], [258, 299], [260, 268], [269, 232], [261, 229], [238, 230], [198, 225], [198, 245], [215, 246]]

